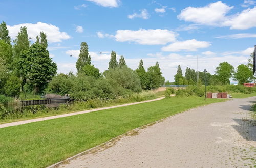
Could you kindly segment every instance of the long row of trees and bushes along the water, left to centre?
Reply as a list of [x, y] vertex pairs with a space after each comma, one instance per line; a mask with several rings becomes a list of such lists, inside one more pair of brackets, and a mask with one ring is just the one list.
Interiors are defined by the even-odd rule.
[[145, 70], [140, 60], [138, 69], [130, 69], [123, 56], [117, 62], [111, 52], [108, 70], [101, 73], [91, 62], [86, 42], [80, 45], [76, 62], [77, 74], [57, 74], [57, 65], [48, 51], [44, 32], [31, 44], [26, 27], [20, 27], [12, 41], [6, 23], [0, 24], [0, 94], [18, 96], [23, 93], [72, 94], [79, 100], [115, 98], [142, 89], [154, 89], [165, 79], [156, 62]]

